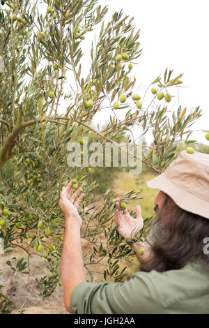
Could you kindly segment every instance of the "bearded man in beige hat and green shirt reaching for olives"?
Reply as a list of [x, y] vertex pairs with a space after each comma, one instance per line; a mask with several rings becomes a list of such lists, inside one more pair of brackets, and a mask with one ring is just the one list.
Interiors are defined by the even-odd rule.
[[[157, 216], [150, 229], [141, 270], [124, 283], [87, 283], [80, 242], [77, 207], [81, 188], [72, 193], [72, 181], [63, 188], [60, 206], [65, 214], [61, 274], [65, 306], [71, 313], [209, 313], [209, 155], [181, 151], [163, 174], [148, 181], [160, 190]], [[78, 199], [75, 201], [77, 195]], [[116, 224], [130, 237], [143, 226], [116, 202]], [[139, 248], [132, 245], [135, 251]], [[208, 247], [209, 248], [209, 247]]]

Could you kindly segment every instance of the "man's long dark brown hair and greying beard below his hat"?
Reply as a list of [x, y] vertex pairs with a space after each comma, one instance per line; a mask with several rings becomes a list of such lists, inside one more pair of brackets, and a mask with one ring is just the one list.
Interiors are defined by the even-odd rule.
[[209, 237], [209, 220], [180, 209], [165, 194], [148, 234], [150, 256], [141, 256], [141, 271], [181, 269], [187, 262], [201, 262], [209, 269], [209, 255], [203, 253], [203, 240]]

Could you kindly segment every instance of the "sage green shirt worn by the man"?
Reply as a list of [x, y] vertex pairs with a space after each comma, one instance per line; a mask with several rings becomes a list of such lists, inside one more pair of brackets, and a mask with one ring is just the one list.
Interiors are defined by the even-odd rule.
[[79, 283], [70, 308], [78, 314], [209, 314], [209, 270], [188, 263], [179, 270], [139, 271], [124, 283]]

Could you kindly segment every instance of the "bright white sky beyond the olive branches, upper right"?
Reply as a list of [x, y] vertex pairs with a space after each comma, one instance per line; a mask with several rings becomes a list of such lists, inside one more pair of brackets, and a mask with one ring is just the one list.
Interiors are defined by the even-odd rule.
[[[137, 93], [163, 74], [167, 66], [173, 69], [173, 77], [184, 73], [180, 79], [184, 82], [180, 88], [180, 105], [188, 110], [200, 105], [203, 117], [193, 129], [209, 130], [208, 0], [99, 0], [98, 3], [109, 7], [108, 17], [123, 8], [124, 14], [135, 18], [136, 29], [141, 29], [139, 41], [143, 52], [136, 61], [139, 65], [133, 68]], [[100, 33], [99, 26], [94, 33], [95, 36]], [[84, 41], [88, 52], [88, 40]], [[177, 110], [177, 99], [175, 103]], [[106, 120], [107, 111], [104, 111], [98, 113], [94, 122]], [[199, 132], [194, 137], [198, 142], [206, 142], [204, 135]]]

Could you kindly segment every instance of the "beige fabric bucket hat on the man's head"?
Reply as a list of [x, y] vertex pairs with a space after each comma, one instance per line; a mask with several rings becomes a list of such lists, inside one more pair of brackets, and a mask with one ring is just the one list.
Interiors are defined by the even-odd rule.
[[209, 218], [209, 155], [180, 151], [167, 169], [147, 182], [167, 193], [181, 209]]

